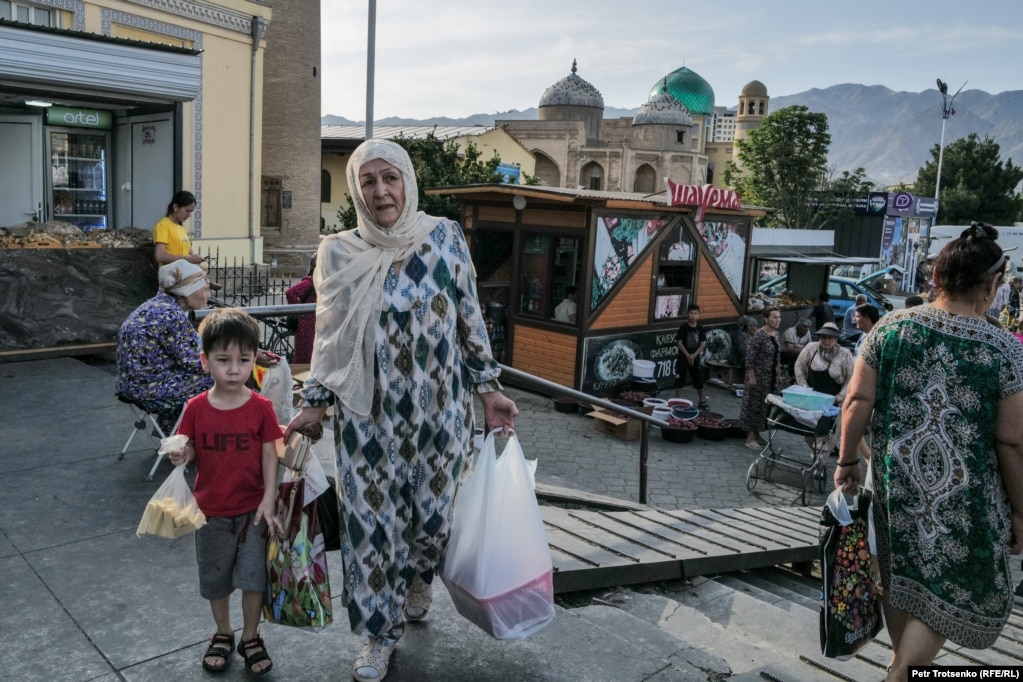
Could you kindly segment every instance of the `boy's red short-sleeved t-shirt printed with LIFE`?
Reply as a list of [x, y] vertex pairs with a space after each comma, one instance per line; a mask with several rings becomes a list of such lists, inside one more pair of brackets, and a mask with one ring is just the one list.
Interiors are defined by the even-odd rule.
[[273, 403], [253, 392], [233, 410], [218, 410], [206, 392], [185, 406], [179, 434], [195, 445], [195, 501], [207, 516], [237, 516], [263, 501], [263, 444], [284, 434]]

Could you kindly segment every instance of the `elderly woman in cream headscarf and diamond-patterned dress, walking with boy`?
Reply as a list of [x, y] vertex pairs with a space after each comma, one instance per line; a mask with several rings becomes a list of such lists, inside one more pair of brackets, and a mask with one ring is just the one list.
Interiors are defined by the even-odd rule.
[[489, 428], [518, 409], [498, 383], [476, 273], [457, 223], [418, 212], [411, 160], [370, 139], [348, 164], [358, 227], [320, 244], [316, 340], [291, 431], [337, 410], [343, 601], [367, 638], [356, 680], [381, 680], [430, 609], [470, 452], [473, 394]]

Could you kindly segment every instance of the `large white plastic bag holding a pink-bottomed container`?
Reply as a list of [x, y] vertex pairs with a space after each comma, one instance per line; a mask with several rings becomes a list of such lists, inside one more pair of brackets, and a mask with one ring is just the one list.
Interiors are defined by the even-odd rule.
[[441, 579], [455, 608], [495, 639], [524, 639], [554, 618], [550, 549], [533, 474], [513, 435], [487, 436], [455, 498]]

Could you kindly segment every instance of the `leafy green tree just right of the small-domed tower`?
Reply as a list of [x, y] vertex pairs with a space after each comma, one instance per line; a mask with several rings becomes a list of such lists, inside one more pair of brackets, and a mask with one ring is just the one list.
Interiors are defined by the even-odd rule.
[[781, 227], [822, 227], [834, 216], [824, 195], [828, 185], [828, 115], [787, 106], [736, 141], [741, 166], [728, 162], [724, 182], [744, 203], [775, 209], [767, 222]]

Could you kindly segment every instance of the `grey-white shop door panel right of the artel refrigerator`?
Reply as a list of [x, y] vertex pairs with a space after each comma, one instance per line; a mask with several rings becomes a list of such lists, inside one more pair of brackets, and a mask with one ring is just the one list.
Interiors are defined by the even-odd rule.
[[174, 126], [170, 116], [131, 122], [131, 224], [151, 229], [167, 214], [174, 186]]

